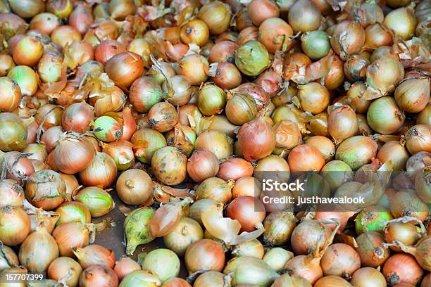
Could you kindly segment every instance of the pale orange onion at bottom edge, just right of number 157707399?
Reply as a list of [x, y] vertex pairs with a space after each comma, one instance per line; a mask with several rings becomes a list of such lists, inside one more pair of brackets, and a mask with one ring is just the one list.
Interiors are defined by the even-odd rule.
[[58, 257], [49, 264], [46, 274], [49, 279], [60, 280], [67, 278], [68, 286], [77, 286], [82, 273], [81, 265], [70, 257]]

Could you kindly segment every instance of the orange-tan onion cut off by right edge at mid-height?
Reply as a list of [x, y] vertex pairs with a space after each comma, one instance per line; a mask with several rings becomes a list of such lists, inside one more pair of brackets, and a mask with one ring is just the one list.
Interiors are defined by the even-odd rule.
[[431, 153], [430, 125], [415, 125], [406, 133], [406, 148], [413, 155], [420, 151]]

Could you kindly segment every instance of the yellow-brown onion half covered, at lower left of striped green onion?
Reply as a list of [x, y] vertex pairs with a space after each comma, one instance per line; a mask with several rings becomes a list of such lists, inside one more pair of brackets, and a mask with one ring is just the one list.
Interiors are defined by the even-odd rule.
[[89, 223], [92, 219], [87, 206], [77, 201], [68, 201], [61, 204], [56, 209], [56, 213], [60, 215], [60, 218], [56, 222], [57, 225], [66, 222]]

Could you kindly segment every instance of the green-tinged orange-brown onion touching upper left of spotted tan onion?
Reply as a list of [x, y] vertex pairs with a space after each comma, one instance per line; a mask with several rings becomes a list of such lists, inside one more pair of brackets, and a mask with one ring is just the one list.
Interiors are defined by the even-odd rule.
[[147, 128], [138, 129], [130, 141], [133, 144], [133, 151], [137, 159], [146, 164], [151, 163], [151, 158], [159, 148], [167, 146], [163, 134]]

